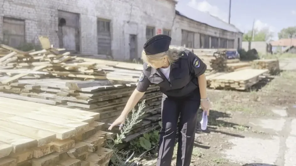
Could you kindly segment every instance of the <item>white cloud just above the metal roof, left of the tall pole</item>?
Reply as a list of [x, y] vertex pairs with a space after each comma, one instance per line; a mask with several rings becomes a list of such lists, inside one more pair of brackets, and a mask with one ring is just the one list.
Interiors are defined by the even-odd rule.
[[201, 12], [209, 13], [215, 17], [220, 18], [221, 20], [227, 22], [228, 14], [221, 11], [217, 6], [211, 5], [208, 1], [204, 0], [202, 2], [197, 2], [197, 0], [190, 0], [188, 5], [192, 8], [195, 8]]

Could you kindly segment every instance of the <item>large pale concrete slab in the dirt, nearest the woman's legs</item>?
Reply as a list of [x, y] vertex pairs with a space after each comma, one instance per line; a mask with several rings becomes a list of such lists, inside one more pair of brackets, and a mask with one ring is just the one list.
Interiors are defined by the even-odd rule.
[[227, 159], [236, 163], [274, 164], [278, 158], [280, 139], [234, 138], [229, 140], [235, 144], [223, 152]]

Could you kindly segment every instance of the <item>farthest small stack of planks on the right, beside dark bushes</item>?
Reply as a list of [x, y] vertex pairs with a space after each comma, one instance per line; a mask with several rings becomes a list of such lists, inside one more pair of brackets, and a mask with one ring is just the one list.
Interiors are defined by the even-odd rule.
[[280, 70], [278, 59], [256, 59], [252, 62], [255, 69], [268, 69], [270, 73], [277, 73]]

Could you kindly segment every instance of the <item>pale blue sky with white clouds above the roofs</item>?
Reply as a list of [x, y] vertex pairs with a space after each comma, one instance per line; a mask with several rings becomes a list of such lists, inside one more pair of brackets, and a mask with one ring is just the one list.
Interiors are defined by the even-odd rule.
[[[201, 12], [228, 22], [229, 0], [178, 0]], [[273, 40], [278, 39], [278, 32], [290, 26], [296, 26], [296, 0], [232, 0], [230, 23], [241, 32], [255, 28], [268, 28], [273, 32]]]

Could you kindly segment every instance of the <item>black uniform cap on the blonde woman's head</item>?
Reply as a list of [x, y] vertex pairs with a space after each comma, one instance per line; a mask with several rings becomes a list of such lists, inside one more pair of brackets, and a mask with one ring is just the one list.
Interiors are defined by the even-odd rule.
[[163, 53], [169, 50], [172, 38], [167, 35], [156, 35], [144, 44], [146, 55]]

